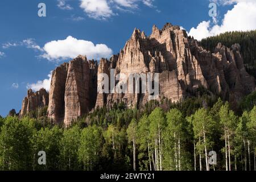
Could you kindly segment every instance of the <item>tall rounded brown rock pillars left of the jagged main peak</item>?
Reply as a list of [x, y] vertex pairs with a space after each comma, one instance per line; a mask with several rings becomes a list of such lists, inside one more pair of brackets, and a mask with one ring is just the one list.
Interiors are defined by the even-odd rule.
[[96, 94], [97, 61], [88, 61], [80, 55], [53, 71], [47, 115], [52, 121], [68, 126], [92, 110]]

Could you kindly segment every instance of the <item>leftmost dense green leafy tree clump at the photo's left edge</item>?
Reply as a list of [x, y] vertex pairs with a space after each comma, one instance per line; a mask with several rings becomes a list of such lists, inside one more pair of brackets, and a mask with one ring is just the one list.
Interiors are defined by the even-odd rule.
[[0, 165], [6, 170], [30, 170], [34, 127], [29, 118], [7, 117], [1, 127]]

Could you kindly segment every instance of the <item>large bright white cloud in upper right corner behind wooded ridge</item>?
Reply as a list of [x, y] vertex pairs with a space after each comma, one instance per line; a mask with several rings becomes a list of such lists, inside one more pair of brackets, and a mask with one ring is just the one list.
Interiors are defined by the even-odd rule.
[[229, 10], [222, 19], [220, 25], [203, 21], [196, 28], [191, 28], [189, 35], [197, 40], [208, 36], [214, 36], [226, 31], [246, 31], [256, 29], [256, 1], [255, 0], [230, 0], [216, 1], [226, 5], [227, 3], [236, 3], [232, 10]]

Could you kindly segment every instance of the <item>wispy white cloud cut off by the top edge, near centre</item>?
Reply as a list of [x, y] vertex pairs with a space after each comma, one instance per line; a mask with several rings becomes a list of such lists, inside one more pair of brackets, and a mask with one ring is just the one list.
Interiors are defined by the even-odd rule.
[[84, 12], [94, 19], [105, 20], [117, 15], [114, 10], [125, 10], [132, 12], [138, 9], [140, 4], [155, 7], [154, 0], [80, 0], [80, 7]]

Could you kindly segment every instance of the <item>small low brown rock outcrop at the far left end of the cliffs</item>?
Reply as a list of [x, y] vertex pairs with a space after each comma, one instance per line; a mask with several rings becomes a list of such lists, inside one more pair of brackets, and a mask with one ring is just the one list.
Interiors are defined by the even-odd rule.
[[24, 116], [38, 107], [48, 106], [49, 94], [46, 89], [42, 88], [38, 92], [33, 92], [32, 89], [27, 91], [27, 97], [22, 101], [22, 109], [20, 110], [20, 117]]

